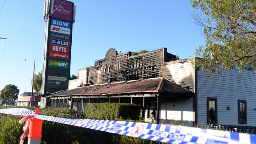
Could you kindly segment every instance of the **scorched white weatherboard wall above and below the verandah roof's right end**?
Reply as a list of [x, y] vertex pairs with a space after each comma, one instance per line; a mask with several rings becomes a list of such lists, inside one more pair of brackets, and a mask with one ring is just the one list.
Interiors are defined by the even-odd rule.
[[[161, 76], [167, 78], [177, 85], [182, 87], [189, 87], [189, 90], [195, 91], [194, 82], [194, 68], [191, 61], [194, 58], [180, 59], [176, 61], [166, 62], [161, 68]], [[179, 124], [192, 125], [195, 121], [195, 112], [193, 112], [193, 98], [189, 100], [177, 100], [175, 107], [173, 102], [161, 101], [161, 120], [166, 124], [170, 122], [178, 122]]]

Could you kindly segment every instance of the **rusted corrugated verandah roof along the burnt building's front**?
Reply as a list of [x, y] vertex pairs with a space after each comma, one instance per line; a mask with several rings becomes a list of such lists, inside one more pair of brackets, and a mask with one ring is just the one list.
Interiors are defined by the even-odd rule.
[[[178, 94], [193, 94], [193, 92], [169, 81], [165, 78], [151, 78], [135, 81], [123, 81], [101, 85], [91, 85], [66, 90], [50, 96], [89, 96], [115, 95], [128, 93], [167, 92]], [[48, 97], [50, 97], [48, 96]]]

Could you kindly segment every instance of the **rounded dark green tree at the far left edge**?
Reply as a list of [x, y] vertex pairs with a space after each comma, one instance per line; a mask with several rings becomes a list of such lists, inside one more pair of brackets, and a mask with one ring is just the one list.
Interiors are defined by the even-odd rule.
[[10, 100], [16, 100], [18, 98], [19, 92], [20, 90], [15, 85], [9, 84], [1, 90], [0, 98], [3, 98], [5, 101], [8, 101], [9, 104]]

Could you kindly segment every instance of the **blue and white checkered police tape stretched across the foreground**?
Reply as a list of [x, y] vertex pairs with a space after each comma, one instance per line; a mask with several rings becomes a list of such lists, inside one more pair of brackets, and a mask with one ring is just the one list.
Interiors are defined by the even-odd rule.
[[34, 114], [33, 111], [24, 108], [1, 109], [0, 113], [34, 115], [41, 120], [172, 144], [256, 144], [256, 135], [213, 129], [115, 120], [58, 118]]

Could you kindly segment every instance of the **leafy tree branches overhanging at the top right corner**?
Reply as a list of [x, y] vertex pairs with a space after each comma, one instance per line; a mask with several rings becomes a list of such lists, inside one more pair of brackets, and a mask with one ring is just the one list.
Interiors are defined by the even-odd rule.
[[199, 46], [194, 65], [208, 72], [256, 67], [256, 1], [191, 0], [202, 15], [192, 15], [204, 28], [206, 45]]

